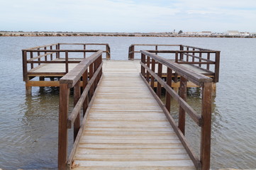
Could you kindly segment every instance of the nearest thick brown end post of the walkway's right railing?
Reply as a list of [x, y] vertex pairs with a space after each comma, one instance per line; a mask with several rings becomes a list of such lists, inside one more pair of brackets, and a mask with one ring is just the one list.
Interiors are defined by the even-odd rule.
[[204, 83], [202, 90], [203, 125], [201, 126], [201, 163], [202, 170], [210, 169], [211, 158], [211, 89], [212, 83]]

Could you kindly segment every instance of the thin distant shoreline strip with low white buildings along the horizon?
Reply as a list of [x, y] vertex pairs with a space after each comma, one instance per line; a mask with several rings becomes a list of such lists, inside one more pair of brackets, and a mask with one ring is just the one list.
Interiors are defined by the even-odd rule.
[[83, 32], [23, 32], [0, 31], [0, 37], [184, 37], [184, 38], [256, 38], [256, 35], [187, 35], [179, 33], [83, 33]]

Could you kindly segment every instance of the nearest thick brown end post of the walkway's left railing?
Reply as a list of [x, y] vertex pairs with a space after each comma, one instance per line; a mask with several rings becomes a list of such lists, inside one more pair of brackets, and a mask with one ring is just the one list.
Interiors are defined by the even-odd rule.
[[59, 135], [58, 135], [58, 169], [66, 169], [67, 162], [67, 114], [69, 106], [69, 88], [60, 84]]

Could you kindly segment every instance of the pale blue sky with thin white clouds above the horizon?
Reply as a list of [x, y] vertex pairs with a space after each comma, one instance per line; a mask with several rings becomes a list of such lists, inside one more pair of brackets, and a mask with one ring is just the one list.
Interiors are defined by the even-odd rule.
[[256, 33], [256, 1], [0, 0], [0, 30]]

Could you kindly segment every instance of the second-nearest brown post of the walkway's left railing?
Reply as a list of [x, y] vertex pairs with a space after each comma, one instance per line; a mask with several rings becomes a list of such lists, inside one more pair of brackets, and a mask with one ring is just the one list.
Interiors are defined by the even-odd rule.
[[[76, 106], [80, 96], [81, 96], [81, 88], [80, 88], [80, 80], [79, 80], [77, 81], [77, 84], [74, 85], [74, 106]], [[77, 115], [76, 120], [74, 120], [74, 140], [76, 140], [79, 128], [80, 128], [80, 111]]]

